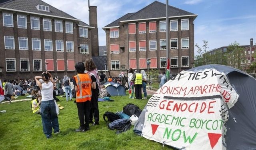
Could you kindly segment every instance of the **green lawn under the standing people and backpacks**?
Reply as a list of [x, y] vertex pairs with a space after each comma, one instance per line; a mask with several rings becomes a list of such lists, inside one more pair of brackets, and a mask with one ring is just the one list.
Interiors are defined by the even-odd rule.
[[[53, 134], [51, 139], [46, 139], [42, 130], [41, 116], [32, 113], [30, 101], [0, 104], [0, 110], [6, 110], [6, 113], [0, 113], [0, 150], [160, 150], [162, 148], [162, 144], [134, 134], [133, 126], [130, 130], [117, 135], [115, 130], [107, 128], [107, 123], [102, 118], [104, 112], [121, 111], [128, 103], [136, 104], [143, 109], [147, 100], [112, 96], [114, 102], [98, 102], [100, 125], [91, 126], [87, 132], [77, 133], [74, 131], [79, 126], [76, 104], [71, 101], [66, 102], [66, 99], [60, 96], [58, 98], [60, 99], [58, 104], [64, 106], [58, 115], [60, 134]], [[164, 150], [173, 149], [164, 146]]]

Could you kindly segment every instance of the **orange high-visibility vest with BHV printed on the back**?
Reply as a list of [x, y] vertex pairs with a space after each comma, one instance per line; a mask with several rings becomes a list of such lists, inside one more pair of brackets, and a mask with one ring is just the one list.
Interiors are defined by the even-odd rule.
[[76, 91], [76, 102], [86, 102], [87, 100], [91, 100], [92, 79], [89, 74], [77, 74], [76, 76], [74, 76], [74, 78], [76, 80], [76, 86], [78, 88], [78, 91]]

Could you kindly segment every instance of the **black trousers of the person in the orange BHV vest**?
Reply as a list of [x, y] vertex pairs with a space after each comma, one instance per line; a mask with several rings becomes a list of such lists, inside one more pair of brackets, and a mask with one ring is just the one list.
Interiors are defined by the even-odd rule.
[[89, 115], [90, 115], [90, 101], [76, 102], [78, 117], [80, 121], [80, 128], [89, 128]]

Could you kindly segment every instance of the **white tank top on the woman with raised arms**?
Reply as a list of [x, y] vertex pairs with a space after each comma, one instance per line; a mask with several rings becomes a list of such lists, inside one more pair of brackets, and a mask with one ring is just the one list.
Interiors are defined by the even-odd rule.
[[48, 82], [48, 84], [43, 83], [41, 94], [42, 94], [42, 101], [53, 100], [53, 83], [52, 82]]

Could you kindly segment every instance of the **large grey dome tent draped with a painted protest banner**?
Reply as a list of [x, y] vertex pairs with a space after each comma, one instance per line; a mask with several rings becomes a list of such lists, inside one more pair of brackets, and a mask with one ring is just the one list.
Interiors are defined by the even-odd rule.
[[256, 149], [255, 85], [223, 65], [182, 71], [148, 100], [134, 132], [178, 149]]

